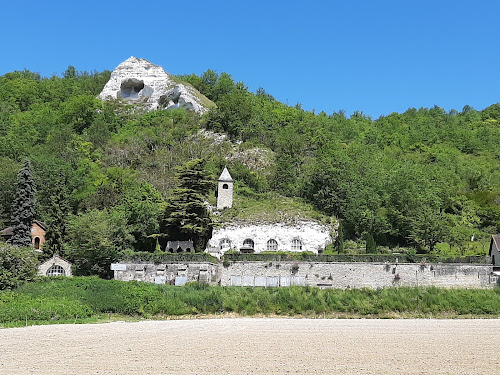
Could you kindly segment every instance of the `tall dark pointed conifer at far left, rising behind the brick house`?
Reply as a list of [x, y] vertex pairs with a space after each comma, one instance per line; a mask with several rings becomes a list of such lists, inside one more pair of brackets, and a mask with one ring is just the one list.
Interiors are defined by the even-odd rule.
[[12, 202], [13, 235], [11, 243], [14, 246], [31, 246], [31, 227], [35, 219], [35, 183], [31, 173], [29, 160], [17, 174], [17, 190]]

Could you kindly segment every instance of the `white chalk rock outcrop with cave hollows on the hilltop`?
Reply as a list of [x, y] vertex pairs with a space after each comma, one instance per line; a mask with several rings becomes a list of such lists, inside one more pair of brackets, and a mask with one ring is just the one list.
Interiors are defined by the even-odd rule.
[[185, 108], [203, 114], [215, 106], [194, 87], [174, 79], [161, 66], [137, 57], [130, 57], [113, 70], [99, 98], [144, 103], [150, 111]]

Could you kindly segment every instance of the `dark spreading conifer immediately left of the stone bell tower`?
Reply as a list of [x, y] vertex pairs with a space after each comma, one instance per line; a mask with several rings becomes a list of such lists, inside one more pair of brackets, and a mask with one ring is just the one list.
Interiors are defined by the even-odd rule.
[[192, 240], [195, 251], [203, 251], [212, 235], [213, 222], [205, 199], [213, 182], [203, 159], [193, 159], [177, 169], [179, 187], [168, 200], [161, 232], [173, 240]]

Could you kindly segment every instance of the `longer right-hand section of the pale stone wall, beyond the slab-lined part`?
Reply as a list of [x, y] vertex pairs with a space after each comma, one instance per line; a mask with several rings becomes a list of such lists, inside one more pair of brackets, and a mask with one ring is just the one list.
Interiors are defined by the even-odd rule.
[[[234, 262], [221, 266], [221, 285], [309, 285], [320, 288], [438, 286], [486, 288], [495, 285], [487, 264], [385, 264], [325, 262]], [[254, 284], [255, 285], [255, 284]]]

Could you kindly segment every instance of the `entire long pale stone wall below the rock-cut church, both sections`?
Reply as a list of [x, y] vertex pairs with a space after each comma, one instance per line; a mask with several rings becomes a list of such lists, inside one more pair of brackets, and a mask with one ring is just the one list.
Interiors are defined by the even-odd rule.
[[229, 262], [229, 263], [119, 263], [112, 265], [117, 280], [183, 285], [206, 282], [222, 286], [319, 288], [386, 288], [437, 286], [489, 288], [496, 285], [490, 264], [458, 263], [326, 263], [326, 262]]

